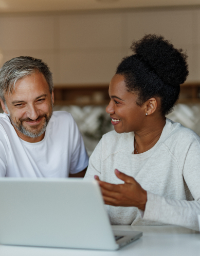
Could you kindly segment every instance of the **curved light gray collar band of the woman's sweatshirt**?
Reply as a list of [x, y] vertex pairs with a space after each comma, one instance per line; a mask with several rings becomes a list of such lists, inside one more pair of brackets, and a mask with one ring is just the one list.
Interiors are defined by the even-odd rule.
[[[134, 158], [134, 160], [141, 161], [143, 159], [149, 158], [152, 155], [152, 153], [156, 150], [156, 148], [161, 144], [161, 142], [167, 137], [167, 135], [170, 132], [171, 125], [172, 125], [171, 120], [166, 118], [166, 124], [163, 127], [163, 130], [162, 130], [162, 133], [160, 135], [160, 138], [156, 142], [156, 144], [153, 146], [153, 148], [151, 148], [150, 150], [148, 150], [148, 151], [146, 151], [144, 153], [141, 153], [141, 154], [133, 154], [134, 153], [134, 150], [133, 150], [132, 157]], [[135, 136], [134, 136], [134, 138], [135, 138]], [[134, 142], [133, 142], [133, 148], [135, 149]]]

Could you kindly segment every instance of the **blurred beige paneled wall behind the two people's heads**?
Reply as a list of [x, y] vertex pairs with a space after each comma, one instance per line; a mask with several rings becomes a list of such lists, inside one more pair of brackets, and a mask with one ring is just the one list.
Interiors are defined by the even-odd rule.
[[4, 61], [43, 59], [56, 84], [109, 83], [132, 40], [156, 33], [189, 55], [188, 81], [200, 80], [200, 9], [0, 15]]

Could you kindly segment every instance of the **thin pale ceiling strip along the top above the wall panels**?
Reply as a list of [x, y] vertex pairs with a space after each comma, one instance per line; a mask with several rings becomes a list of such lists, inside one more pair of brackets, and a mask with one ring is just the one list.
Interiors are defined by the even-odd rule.
[[0, 12], [72, 11], [195, 5], [200, 5], [200, 0], [0, 0]]

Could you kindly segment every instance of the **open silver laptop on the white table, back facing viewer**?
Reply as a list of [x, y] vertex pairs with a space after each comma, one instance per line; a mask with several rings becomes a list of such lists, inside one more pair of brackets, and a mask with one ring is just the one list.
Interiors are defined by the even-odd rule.
[[0, 178], [0, 244], [117, 250], [142, 232], [112, 230], [96, 181]]

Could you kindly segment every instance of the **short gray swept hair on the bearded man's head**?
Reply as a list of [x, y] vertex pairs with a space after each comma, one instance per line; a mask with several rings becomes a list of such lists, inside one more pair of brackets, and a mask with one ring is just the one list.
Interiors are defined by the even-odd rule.
[[6, 103], [4, 94], [7, 92], [12, 93], [15, 84], [19, 79], [37, 71], [44, 75], [49, 86], [49, 91], [52, 93], [52, 73], [50, 72], [47, 64], [41, 59], [21, 56], [6, 61], [0, 70], [0, 99]]

